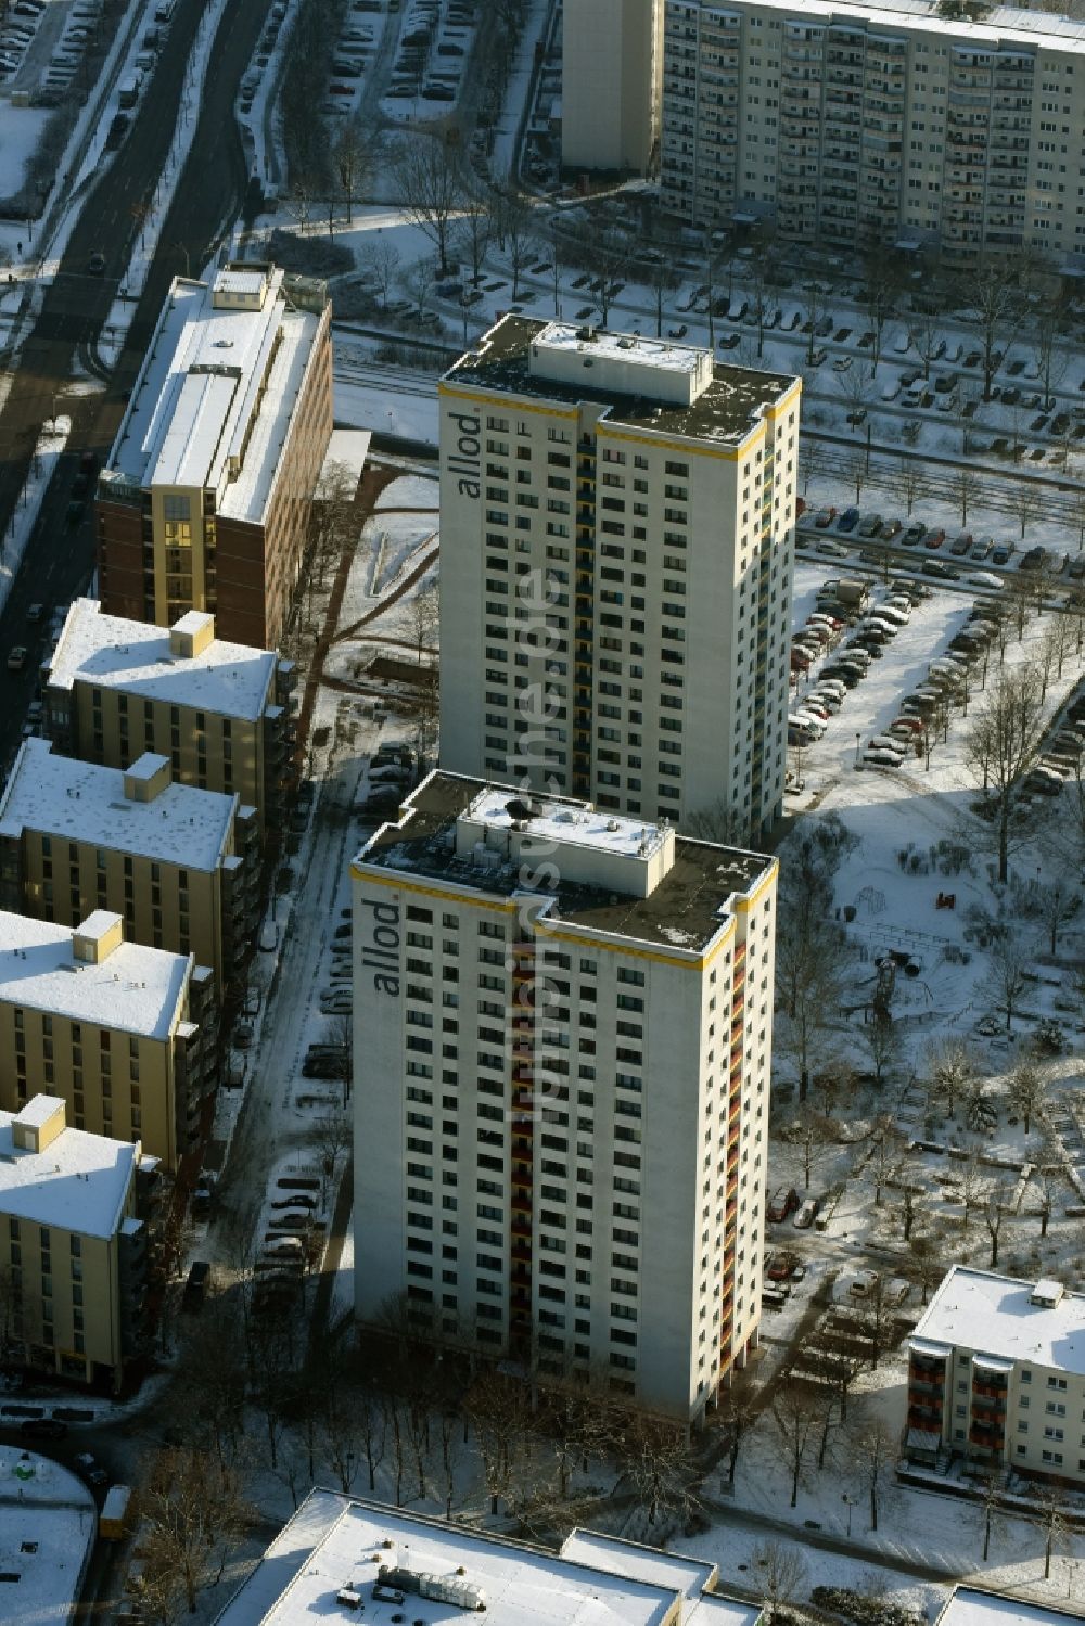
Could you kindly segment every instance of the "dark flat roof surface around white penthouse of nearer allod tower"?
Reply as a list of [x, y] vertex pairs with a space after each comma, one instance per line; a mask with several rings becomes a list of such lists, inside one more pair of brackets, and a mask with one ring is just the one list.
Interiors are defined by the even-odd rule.
[[[519, 863], [496, 870], [480, 868], [472, 859], [459, 857], [449, 841], [459, 815], [465, 813], [483, 792], [490, 793], [493, 789], [491, 782], [470, 779], [465, 774], [442, 771], [429, 774], [405, 800], [400, 823], [384, 824], [358, 855], [356, 865], [402, 872], [405, 876], [431, 876], [498, 898], [522, 894]], [[512, 785], [501, 787], [506, 802], [521, 795]], [[532, 797], [532, 803], [535, 802], [545, 802], [550, 810], [540, 824], [547, 824], [553, 849], [560, 852], [561, 824], [553, 810], [576, 811], [589, 803], [561, 797]], [[643, 821], [613, 820], [613, 823], [618, 824], [618, 839], [625, 839], [625, 823], [634, 823], [641, 834], [647, 831], [649, 839], [656, 829]], [[532, 820], [530, 828], [534, 826]], [[605, 839], [615, 837], [607, 833]], [[678, 953], [699, 958], [727, 925], [727, 901], [735, 894], [750, 893], [761, 876], [771, 873], [774, 863], [774, 859], [756, 852], [678, 836], [675, 862], [647, 898], [617, 896], [612, 886], [584, 886], [568, 878], [558, 878], [553, 893], [543, 891], [540, 896], [553, 898], [553, 907], [547, 914], [551, 924], [561, 920], [586, 927], [592, 933], [665, 943]], [[547, 865], [547, 873], [550, 868], [551, 865]]]

